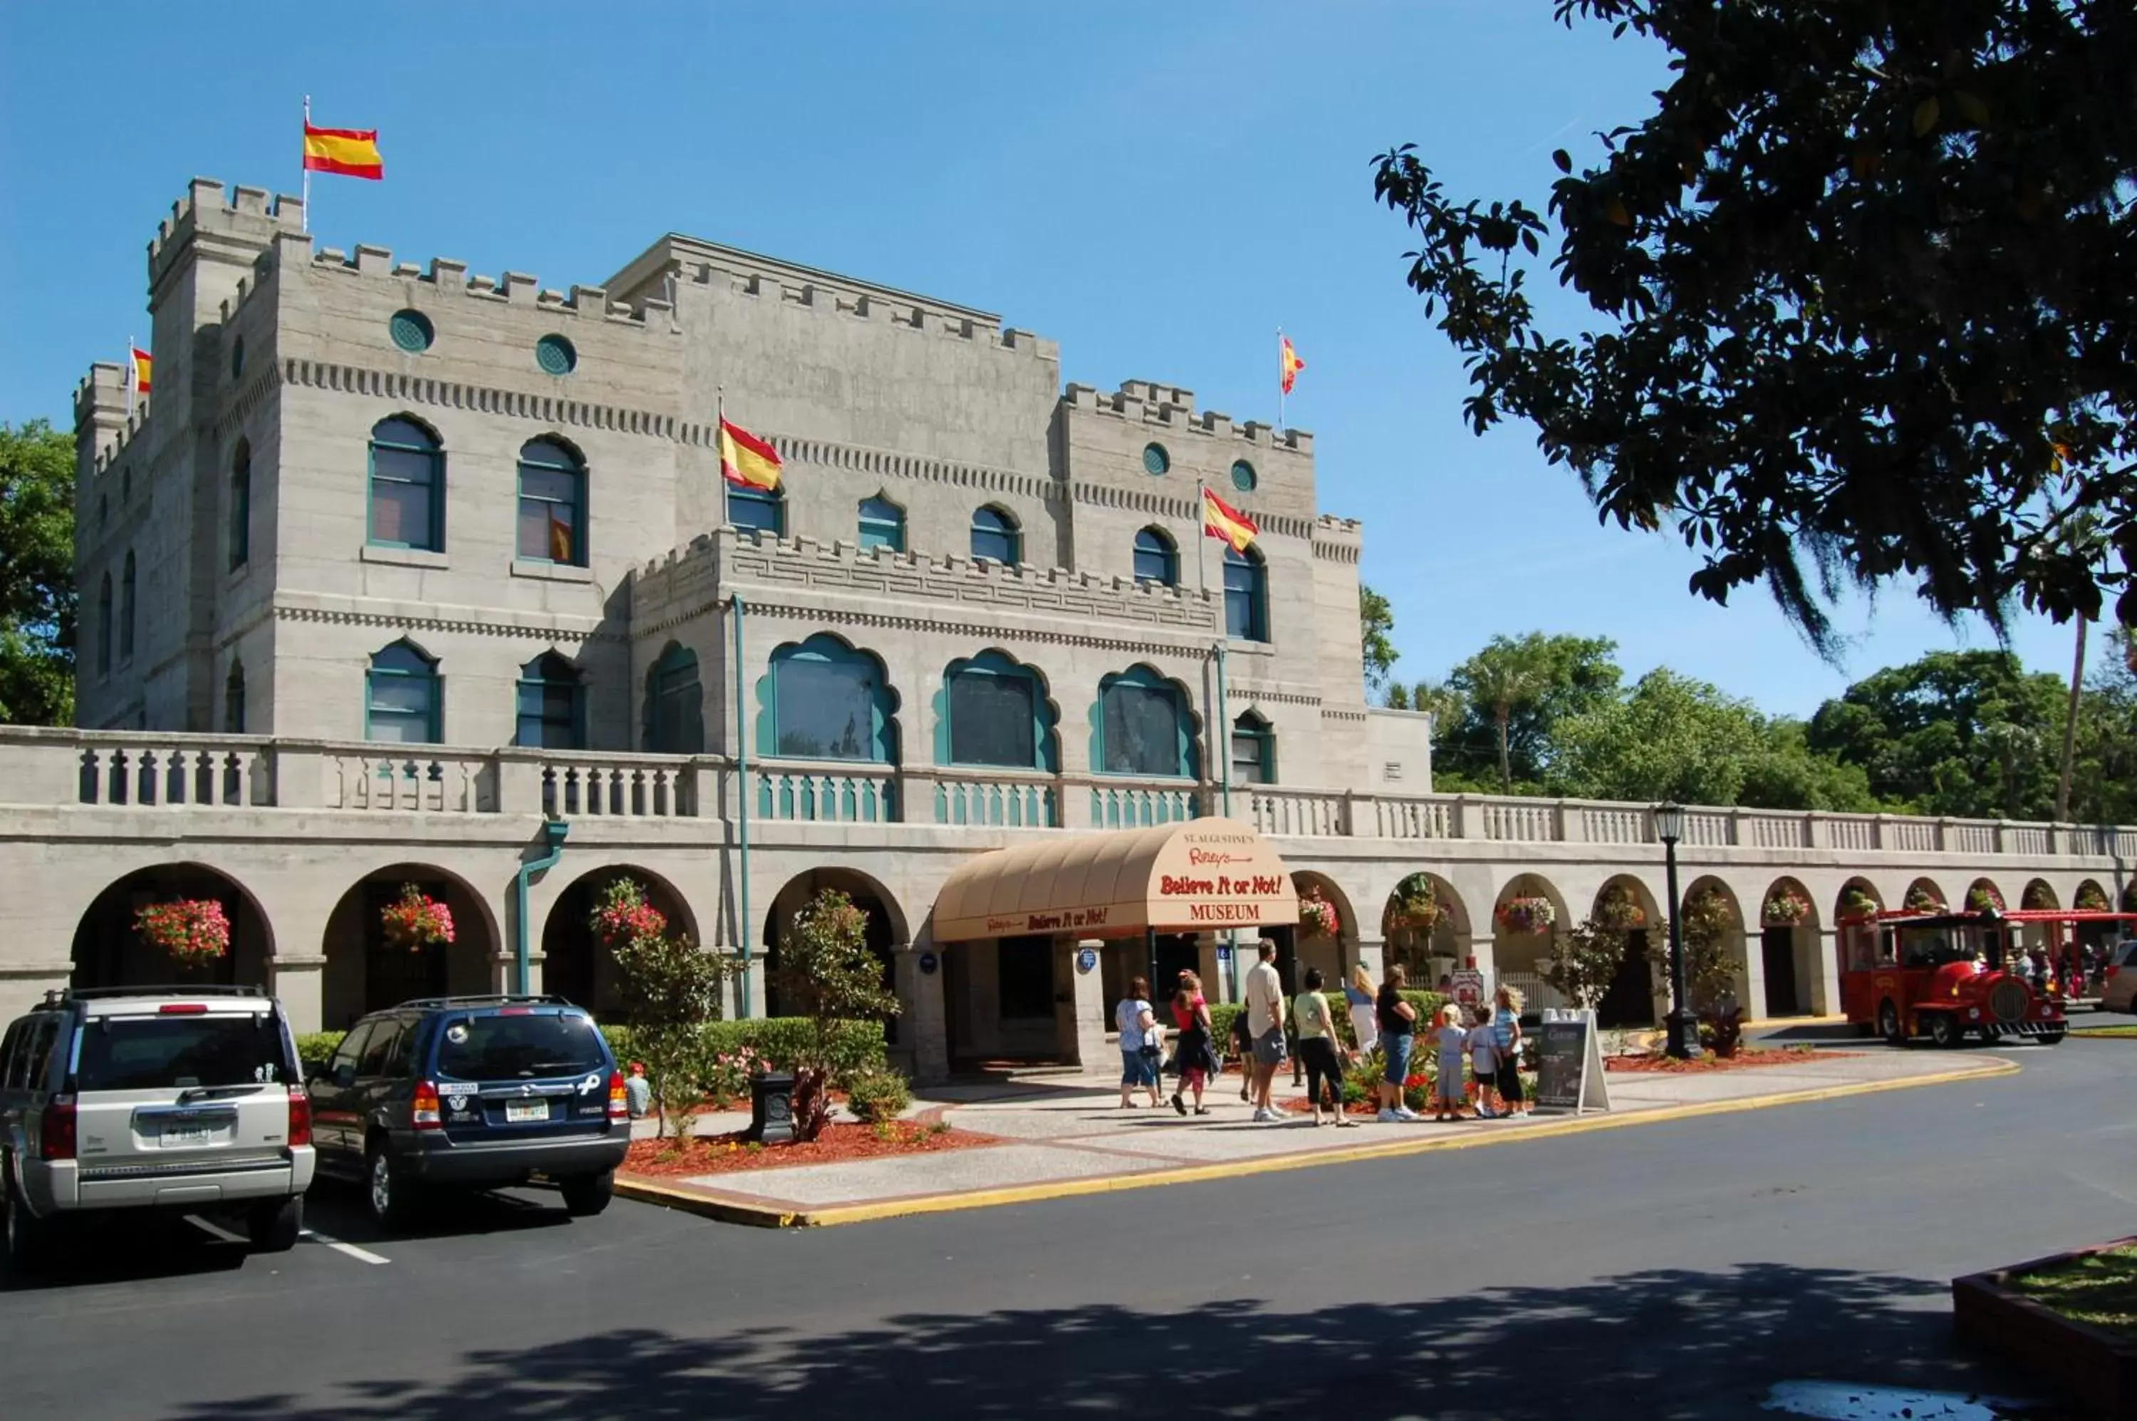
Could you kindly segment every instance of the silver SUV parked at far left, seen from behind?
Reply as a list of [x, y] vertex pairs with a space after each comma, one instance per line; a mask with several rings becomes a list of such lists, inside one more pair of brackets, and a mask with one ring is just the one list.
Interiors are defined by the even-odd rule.
[[51, 991], [0, 1039], [6, 1252], [34, 1267], [73, 1216], [244, 1216], [297, 1244], [312, 1103], [282, 1004], [259, 987]]

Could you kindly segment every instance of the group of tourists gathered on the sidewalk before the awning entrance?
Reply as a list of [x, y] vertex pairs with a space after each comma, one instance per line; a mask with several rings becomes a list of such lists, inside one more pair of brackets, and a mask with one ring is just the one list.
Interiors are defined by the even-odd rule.
[[[1242, 983], [1244, 1004], [1233, 1017], [1233, 1051], [1239, 1058], [1244, 1083], [1239, 1098], [1254, 1107], [1254, 1124], [1276, 1124], [1284, 1111], [1272, 1098], [1276, 1071], [1291, 1060], [1293, 1083], [1306, 1086], [1314, 1124], [1333, 1122], [1351, 1128], [1344, 1111], [1344, 1068], [1378, 1049], [1381, 1079], [1374, 1083], [1381, 1124], [1425, 1120], [1404, 1103], [1417, 1053], [1417, 1039], [1430, 1039], [1438, 1053], [1436, 1081], [1430, 1100], [1432, 1120], [1526, 1120], [1528, 1100], [1522, 1092], [1522, 994], [1500, 987], [1489, 1006], [1470, 1013], [1455, 1002], [1440, 1006], [1432, 1021], [1419, 1021], [1417, 1006], [1404, 1000], [1408, 985], [1400, 964], [1389, 964], [1378, 989], [1366, 968], [1353, 970], [1344, 985], [1344, 1011], [1351, 1017], [1355, 1047], [1342, 1043], [1336, 1015], [1325, 994], [1321, 968], [1306, 968], [1301, 991], [1284, 1002], [1284, 983], [1276, 970], [1276, 942], [1263, 938], [1259, 962]], [[1145, 1092], [1150, 1107], [1167, 1105], [1163, 1079], [1180, 1077], [1171, 1107], [1186, 1115], [1207, 1115], [1205, 1092], [1222, 1071], [1210, 1002], [1201, 979], [1180, 972], [1165, 1015], [1171, 1030], [1171, 1062], [1165, 1060], [1167, 1021], [1150, 1002], [1150, 981], [1135, 977], [1128, 994], [1113, 1011], [1120, 1030], [1120, 1107], [1133, 1109], [1135, 1094]], [[1464, 1081], [1464, 1066], [1468, 1079]], [[1327, 1103], [1327, 1115], [1323, 1113]]]

